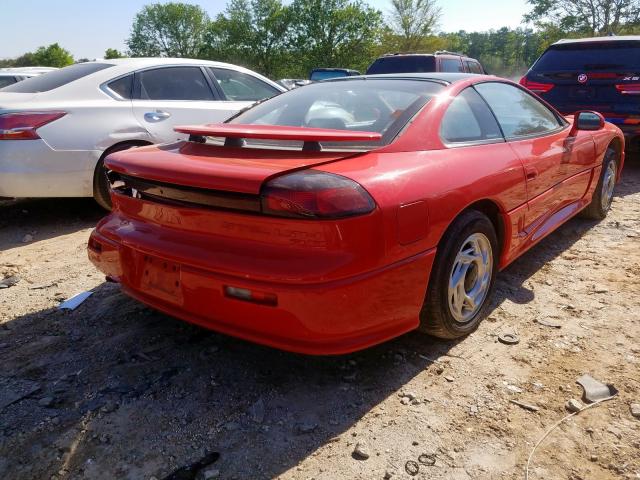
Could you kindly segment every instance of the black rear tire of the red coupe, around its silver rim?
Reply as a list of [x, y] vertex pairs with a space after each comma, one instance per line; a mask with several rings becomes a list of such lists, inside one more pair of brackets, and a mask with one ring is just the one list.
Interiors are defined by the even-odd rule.
[[[482, 304], [469, 319], [456, 320], [449, 304], [449, 280], [458, 252], [473, 234], [482, 234], [491, 245], [491, 274]], [[422, 310], [419, 330], [444, 339], [460, 338], [473, 332], [487, 316], [495, 287], [500, 256], [498, 238], [491, 220], [481, 212], [467, 210], [454, 220], [444, 234], [434, 261]]]

